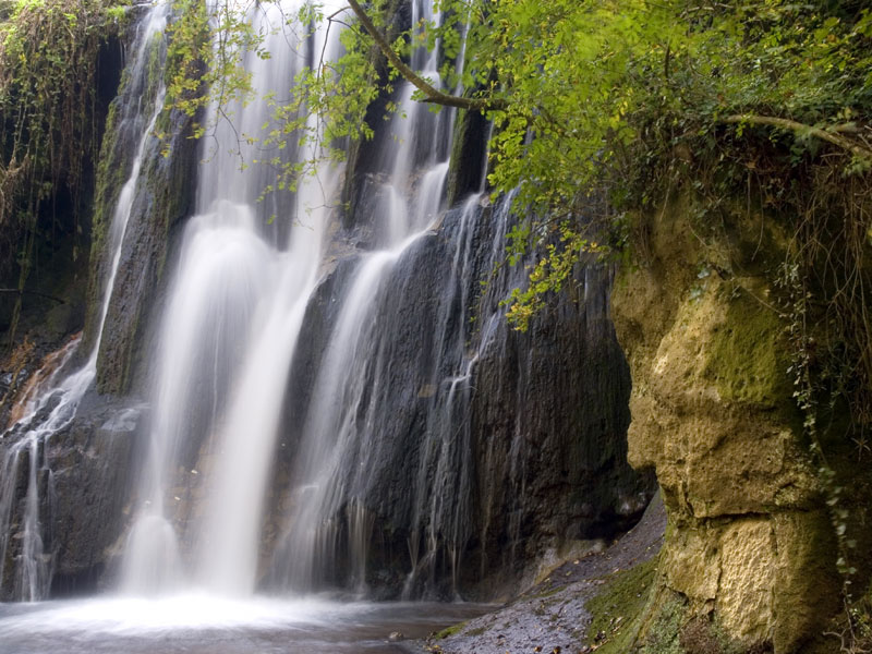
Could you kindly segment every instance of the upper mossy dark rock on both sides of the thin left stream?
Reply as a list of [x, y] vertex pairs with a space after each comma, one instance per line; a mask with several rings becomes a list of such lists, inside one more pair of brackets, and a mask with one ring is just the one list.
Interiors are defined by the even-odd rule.
[[[193, 203], [199, 148], [192, 138], [198, 117], [164, 109], [142, 144], [140, 174], [135, 185], [128, 189], [131, 204], [119, 203], [137, 165], [144, 133], [159, 109], [156, 102], [164, 100], [164, 77], [170, 74], [166, 39], [157, 37], [141, 44], [135, 37], [134, 32], [131, 47], [143, 48], [144, 55], [134, 58], [124, 71], [100, 152], [88, 314], [81, 348], [82, 352], [90, 352], [98, 337], [116, 243], [123, 238], [97, 361], [97, 388], [111, 395], [131, 391], [136, 375], [143, 372], [140, 364], [149, 350], [150, 319], [153, 312], [159, 310], [167, 259], [178, 240], [174, 237], [180, 232], [180, 222]], [[126, 210], [130, 215], [126, 230], [122, 231], [116, 216]]]

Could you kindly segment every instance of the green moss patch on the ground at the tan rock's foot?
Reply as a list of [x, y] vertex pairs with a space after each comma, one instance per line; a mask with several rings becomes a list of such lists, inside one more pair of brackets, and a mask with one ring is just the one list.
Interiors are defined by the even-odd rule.
[[615, 574], [604, 590], [591, 598], [585, 608], [591, 613], [588, 640], [593, 643], [598, 633], [606, 640], [597, 649], [601, 654], [630, 652], [639, 633], [657, 571], [657, 558]]

